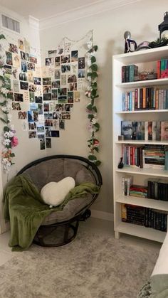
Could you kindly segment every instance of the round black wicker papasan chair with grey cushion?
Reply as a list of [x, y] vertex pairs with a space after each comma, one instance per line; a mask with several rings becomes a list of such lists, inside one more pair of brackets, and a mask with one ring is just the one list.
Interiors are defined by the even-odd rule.
[[[60, 181], [65, 176], [75, 179], [75, 184], [90, 181], [102, 186], [102, 176], [95, 164], [81, 156], [53, 155], [31, 162], [19, 171], [26, 174], [35, 183], [39, 191], [48, 182]], [[48, 215], [33, 240], [37, 245], [54, 247], [72, 241], [78, 231], [80, 220], [90, 217], [90, 206], [98, 194], [88, 194], [84, 198], [69, 201], [63, 211], [53, 211]]]

